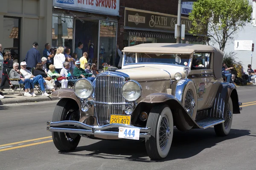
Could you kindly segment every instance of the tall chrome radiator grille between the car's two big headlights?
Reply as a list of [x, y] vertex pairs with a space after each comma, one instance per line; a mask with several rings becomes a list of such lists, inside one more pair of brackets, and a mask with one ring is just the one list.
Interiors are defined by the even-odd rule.
[[[95, 101], [108, 103], [122, 103], [121, 88], [125, 80], [121, 77], [99, 76], [95, 81]], [[96, 115], [99, 125], [109, 124], [111, 114], [122, 114], [123, 105], [109, 105], [96, 103]]]

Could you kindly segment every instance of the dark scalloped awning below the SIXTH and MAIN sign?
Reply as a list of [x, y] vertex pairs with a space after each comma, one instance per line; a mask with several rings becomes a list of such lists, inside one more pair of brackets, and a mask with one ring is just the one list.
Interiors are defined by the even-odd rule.
[[[175, 39], [174, 34], [165, 32], [154, 32], [154, 31], [140, 31], [140, 30], [127, 30], [129, 35], [147, 38], [163, 38], [163, 39]], [[189, 42], [203, 42], [203, 37], [185, 35], [185, 41]]]

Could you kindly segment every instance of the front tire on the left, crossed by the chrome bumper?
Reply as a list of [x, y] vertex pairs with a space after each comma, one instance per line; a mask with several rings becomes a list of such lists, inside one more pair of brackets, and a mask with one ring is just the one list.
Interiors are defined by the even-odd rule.
[[[79, 106], [70, 99], [61, 99], [54, 110], [52, 122], [74, 120], [79, 121]], [[52, 132], [52, 140], [60, 151], [75, 150], [81, 136], [75, 133]]]

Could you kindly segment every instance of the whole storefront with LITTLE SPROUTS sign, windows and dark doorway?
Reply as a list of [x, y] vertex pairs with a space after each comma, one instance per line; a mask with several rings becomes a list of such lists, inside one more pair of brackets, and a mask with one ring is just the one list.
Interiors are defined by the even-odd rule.
[[71, 53], [78, 43], [93, 55], [93, 63], [114, 65], [119, 0], [53, 0], [52, 47], [65, 46]]

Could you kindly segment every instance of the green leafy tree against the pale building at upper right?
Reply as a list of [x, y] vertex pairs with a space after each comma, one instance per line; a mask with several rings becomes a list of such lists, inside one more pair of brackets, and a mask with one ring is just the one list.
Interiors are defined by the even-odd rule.
[[193, 26], [189, 33], [204, 35], [205, 40], [210, 37], [224, 51], [236, 32], [250, 23], [252, 12], [248, 0], [198, 0], [189, 14]]

